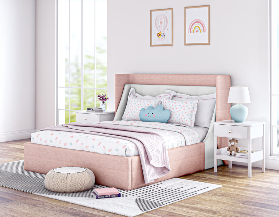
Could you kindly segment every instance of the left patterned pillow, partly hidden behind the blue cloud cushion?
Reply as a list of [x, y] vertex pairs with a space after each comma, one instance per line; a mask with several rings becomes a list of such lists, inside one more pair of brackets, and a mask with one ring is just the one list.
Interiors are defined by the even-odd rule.
[[158, 104], [160, 104], [160, 102], [161, 102], [161, 99], [142, 100], [142, 99], [131, 98], [129, 100], [128, 112], [127, 112], [126, 118], [124, 120], [125, 121], [141, 121], [139, 119], [140, 109], [147, 108], [150, 105], [152, 105], [154, 108], [156, 108], [156, 106]]

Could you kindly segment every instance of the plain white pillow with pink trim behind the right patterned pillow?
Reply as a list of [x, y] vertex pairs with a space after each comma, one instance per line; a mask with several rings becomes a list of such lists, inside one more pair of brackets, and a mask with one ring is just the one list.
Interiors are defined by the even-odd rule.
[[175, 91], [166, 90], [166, 94], [173, 94], [173, 100], [187, 101], [191, 99], [199, 99], [195, 126], [209, 127], [214, 113], [216, 104], [216, 94], [208, 94], [201, 96], [190, 96], [187, 94], [176, 93]]

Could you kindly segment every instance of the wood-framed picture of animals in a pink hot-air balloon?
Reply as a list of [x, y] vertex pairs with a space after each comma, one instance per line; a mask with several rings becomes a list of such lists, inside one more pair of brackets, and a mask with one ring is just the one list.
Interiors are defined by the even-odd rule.
[[150, 10], [150, 47], [154, 46], [173, 46], [173, 8]]

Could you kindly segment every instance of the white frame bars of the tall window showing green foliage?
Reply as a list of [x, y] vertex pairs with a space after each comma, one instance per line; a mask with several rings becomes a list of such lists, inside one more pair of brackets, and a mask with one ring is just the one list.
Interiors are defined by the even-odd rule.
[[[106, 88], [100, 88], [100, 87], [96, 87], [96, 64], [94, 64], [94, 79], [95, 79], [95, 82], [94, 82], [94, 87], [84, 87], [83, 86], [83, 1], [84, 0], [81, 0], [81, 84], [80, 84], [80, 87], [71, 87], [71, 61], [70, 61], [70, 4], [71, 4], [71, 1], [69, 0], [69, 86], [58, 86], [58, 43], [59, 43], [59, 40], [58, 40], [58, 31], [59, 31], [59, 16], [58, 16], [58, 13], [59, 13], [59, 7], [58, 7], [58, 1], [56, 1], [56, 8], [57, 8], [57, 20], [56, 20], [56, 125], [58, 125], [59, 123], [59, 111], [69, 111], [69, 122], [71, 122], [71, 111], [79, 111], [79, 110], [75, 110], [75, 109], [70, 109], [71, 107], [71, 89], [81, 89], [81, 110], [84, 110], [84, 106], [83, 106], [83, 90], [84, 89], [94, 89], [94, 96], [96, 96], [96, 89], [98, 90], [107, 90], [107, 87]], [[94, 1], [94, 63], [96, 63], [96, 37], [95, 37], [95, 30], [96, 30], [96, 0], [92, 0]], [[65, 109], [62, 109], [62, 108], [58, 108], [58, 90], [59, 88], [69, 88], [69, 108], [65, 108]], [[96, 97], [94, 97], [94, 107], [96, 107]]]

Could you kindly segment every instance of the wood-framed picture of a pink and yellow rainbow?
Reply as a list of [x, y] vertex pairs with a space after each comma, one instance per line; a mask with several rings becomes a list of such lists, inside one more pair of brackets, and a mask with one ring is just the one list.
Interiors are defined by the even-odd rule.
[[210, 5], [184, 7], [184, 45], [209, 44]]

